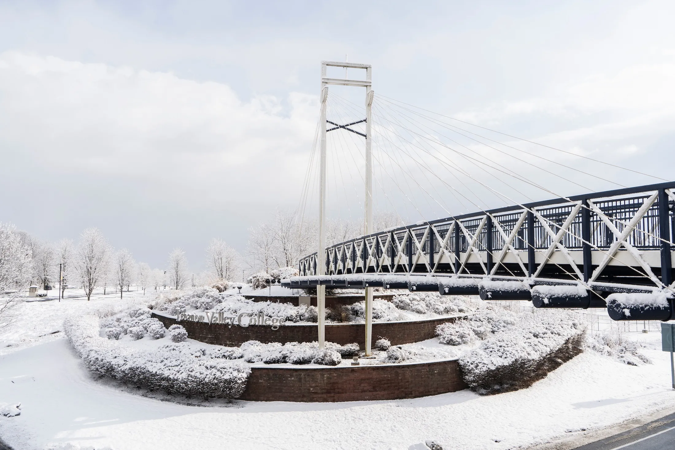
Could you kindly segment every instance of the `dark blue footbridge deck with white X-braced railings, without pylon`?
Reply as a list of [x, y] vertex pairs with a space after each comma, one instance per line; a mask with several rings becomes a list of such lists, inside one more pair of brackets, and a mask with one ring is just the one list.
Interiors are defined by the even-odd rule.
[[[611, 294], [661, 304], [615, 319], [672, 318], [675, 182], [596, 192], [406, 225], [300, 261], [287, 287], [384, 287], [605, 308]], [[664, 304], [665, 301], [665, 304]], [[665, 307], [666, 304], [668, 307]], [[641, 313], [641, 314], [640, 314]]]

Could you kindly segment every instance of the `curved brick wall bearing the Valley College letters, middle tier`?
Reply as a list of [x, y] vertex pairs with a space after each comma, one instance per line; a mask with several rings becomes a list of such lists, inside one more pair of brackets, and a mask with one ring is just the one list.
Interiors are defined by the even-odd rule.
[[[215, 345], [238, 347], [246, 341], [269, 342], [313, 342], [319, 339], [317, 325], [282, 325], [277, 330], [263, 325], [250, 325], [228, 328], [227, 325], [207, 322], [190, 322], [163, 316], [153, 312], [153, 317], [163, 322], [169, 328], [178, 323], [188, 331], [188, 337], [196, 341], [202, 341]], [[373, 342], [379, 337], [385, 337], [391, 341], [391, 345], [406, 344], [425, 341], [436, 335], [436, 327], [446, 322], [454, 322], [456, 317], [434, 318], [430, 320], [416, 320], [414, 322], [375, 322], [373, 323]], [[326, 341], [340, 345], [356, 342], [361, 348], [365, 345], [365, 325], [360, 324], [330, 324], [326, 325]]]

